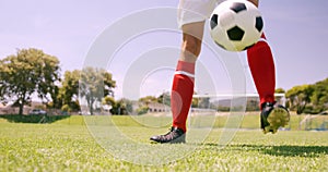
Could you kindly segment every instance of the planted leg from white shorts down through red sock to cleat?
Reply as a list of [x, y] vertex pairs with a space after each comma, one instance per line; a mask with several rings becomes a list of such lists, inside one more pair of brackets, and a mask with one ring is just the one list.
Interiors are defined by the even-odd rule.
[[183, 29], [181, 52], [173, 79], [171, 106], [173, 127], [165, 135], [151, 137], [157, 143], [184, 143], [186, 121], [194, 95], [195, 62], [201, 50], [204, 21], [218, 0], [180, 0], [178, 24]]

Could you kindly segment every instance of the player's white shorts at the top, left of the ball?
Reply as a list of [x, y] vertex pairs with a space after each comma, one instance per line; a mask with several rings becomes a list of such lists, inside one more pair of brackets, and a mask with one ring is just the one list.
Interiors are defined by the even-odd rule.
[[214, 8], [224, 0], [180, 0], [178, 4], [178, 26], [202, 22], [210, 17]]

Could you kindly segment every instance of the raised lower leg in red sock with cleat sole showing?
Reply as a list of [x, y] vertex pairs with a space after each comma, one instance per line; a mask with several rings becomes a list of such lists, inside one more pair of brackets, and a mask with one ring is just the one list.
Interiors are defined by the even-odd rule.
[[265, 35], [247, 50], [248, 65], [260, 98], [261, 128], [276, 133], [290, 121], [289, 111], [274, 101], [276, 70], [271, 49]]

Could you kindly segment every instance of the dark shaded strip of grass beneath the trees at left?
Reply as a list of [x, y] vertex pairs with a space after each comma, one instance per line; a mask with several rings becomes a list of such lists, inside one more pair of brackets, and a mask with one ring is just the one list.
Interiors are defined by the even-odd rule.
[[70, 118], [70, 115], [20, 115], [20, 114], [3, 114], [1, 119], [5, 119], [13, 123], [54, 123], [59, 120]]

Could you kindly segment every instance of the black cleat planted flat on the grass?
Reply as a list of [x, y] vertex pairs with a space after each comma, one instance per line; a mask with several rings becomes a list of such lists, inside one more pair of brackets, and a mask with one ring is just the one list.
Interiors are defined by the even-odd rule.
[[186, 133], [178, 127], [172, 126], [171, 131], [168, 133], [166, 133], [165, 135], [152, 136], [150, 139], [152, 142], [160, 143], [160, 144], [186, 143]]

